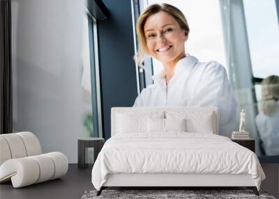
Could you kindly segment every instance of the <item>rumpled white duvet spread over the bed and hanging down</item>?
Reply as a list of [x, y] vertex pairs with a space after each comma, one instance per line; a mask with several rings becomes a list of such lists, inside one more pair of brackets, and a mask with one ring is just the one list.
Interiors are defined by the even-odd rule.
[[250, 174], [259, 190], [264, 172], [255, 153], [209, 133], [126, 133], [105, 142], [92, 170], [97, 190], [115, 173]]

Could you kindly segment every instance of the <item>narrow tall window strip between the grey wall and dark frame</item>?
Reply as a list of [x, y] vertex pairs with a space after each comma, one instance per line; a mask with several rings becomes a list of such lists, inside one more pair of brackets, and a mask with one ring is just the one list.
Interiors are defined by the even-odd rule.
[[84, 96], [83, 125], [89, 137], [102, 137], [100, 121], [100, 91], [98, 79], [98, 47], [96, 46], [96, 20], [91, 15], [83, 18], [82, 77]]

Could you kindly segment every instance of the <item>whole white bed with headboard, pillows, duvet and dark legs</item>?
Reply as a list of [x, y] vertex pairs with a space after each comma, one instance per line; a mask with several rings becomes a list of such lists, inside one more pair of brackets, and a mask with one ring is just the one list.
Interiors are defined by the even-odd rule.
[[218, 108], [112, 108], [112, 137], [93, 165], [97, 195], [107, 187], [246, 186], [258, 196], [255, 153], [218, 135]]

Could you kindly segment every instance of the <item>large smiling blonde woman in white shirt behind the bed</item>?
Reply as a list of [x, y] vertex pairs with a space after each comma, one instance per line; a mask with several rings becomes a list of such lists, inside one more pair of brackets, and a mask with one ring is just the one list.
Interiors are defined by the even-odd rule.
[[163, 63], [164, 70], [153, 76], [154, 84], [142, 90], [134, 107], [217, 106], [219, 132], [230, 136], [236, 124], [236, 101], [225, 68], [216, 61], [202, 63], [186, 55], [188, 34], [183, 13], [169, 4], [153, 4], [140, 15], [135, 61], [141, 65], [149, 54]]

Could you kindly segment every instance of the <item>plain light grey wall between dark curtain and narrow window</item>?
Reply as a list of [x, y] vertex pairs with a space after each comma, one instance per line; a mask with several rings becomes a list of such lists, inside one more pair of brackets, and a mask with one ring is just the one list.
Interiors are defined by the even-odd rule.
[[[83, 135], [82, 1], [12, 0], [14, 132], [77, 162]], [[88, 105], [87, 105], [88, 106]]]

